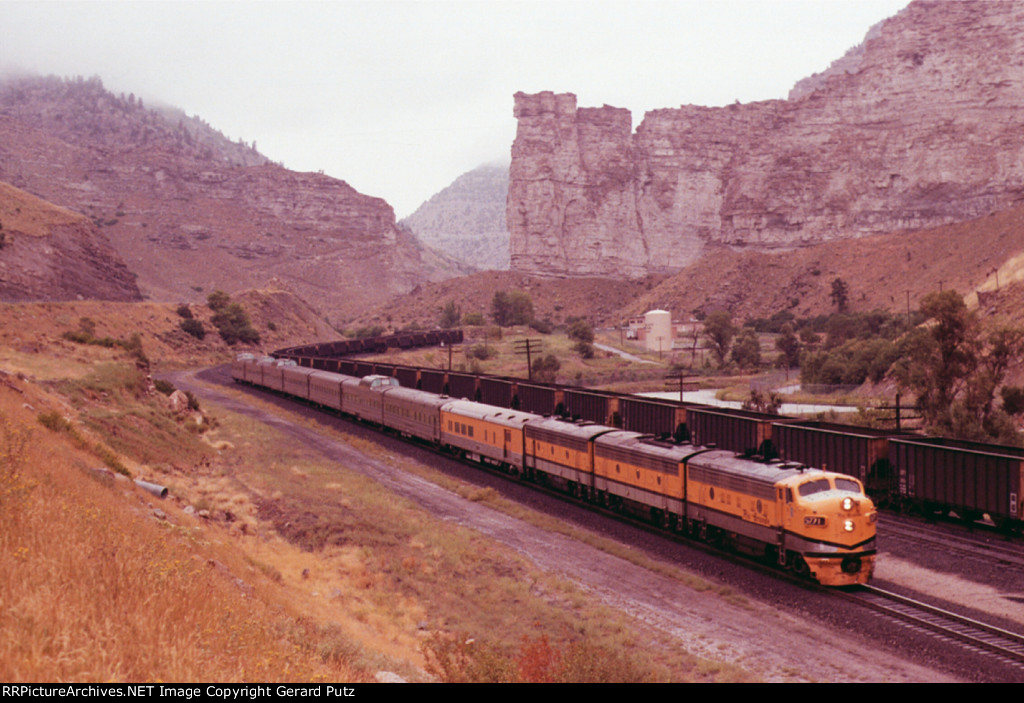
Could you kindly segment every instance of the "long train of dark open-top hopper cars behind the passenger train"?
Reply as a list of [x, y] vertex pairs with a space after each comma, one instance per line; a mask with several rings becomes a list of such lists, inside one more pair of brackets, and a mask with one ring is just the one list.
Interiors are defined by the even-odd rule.
[[350, 376], [391, 376], [402, 386], [500, 407], [821, 467], [858, 479], [877, 504], [925, 515], [952, 514], [968, 521], [987, 517], [1007, 531], [1024, 531], [1024, 449], [1019, 447], [893, 434], [520, 379], [317, 356], [309, 347], [281, 350], [274, 356]]

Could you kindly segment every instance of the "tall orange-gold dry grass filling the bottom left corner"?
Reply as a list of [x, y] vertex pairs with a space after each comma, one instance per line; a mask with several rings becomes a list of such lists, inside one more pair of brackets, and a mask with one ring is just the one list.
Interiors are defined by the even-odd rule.
[[254, 597], [229, 550], [98, 480], [28, 397], [0, 386], [0, 679], [366, 678], [316, 656], [315, 627]]

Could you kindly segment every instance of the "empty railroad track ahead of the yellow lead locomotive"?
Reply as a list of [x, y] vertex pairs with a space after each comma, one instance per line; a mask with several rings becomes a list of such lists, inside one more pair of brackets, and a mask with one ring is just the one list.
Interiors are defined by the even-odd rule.
[[855, 603], [934, 636], [985, 652], [1024, 671], [1024, 635], [897, 594], [865, 585], [841, 594]]

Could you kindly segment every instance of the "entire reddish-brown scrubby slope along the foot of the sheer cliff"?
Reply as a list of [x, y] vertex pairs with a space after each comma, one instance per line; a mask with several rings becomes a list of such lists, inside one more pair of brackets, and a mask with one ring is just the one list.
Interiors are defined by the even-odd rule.
[[933, 291], [953, 289], [968, 295], [972, 305], [980, 292], [983, 312], [992, 308], [989, 301], [1004, 301], [1000, 314], [1024, 322], [1024, 299], [1018, 311], [1006, 298], [1015, 295], [1012, 281], [1024, 279], [1024, 206], [912, 233], [812, 248], [763, 253], [719, 247], [675, 275], [639, 280], [485, 271], [420, 285], [355, 318], [353, 324], [433, 326], [449, 301], [463, 313], [487, 316], [495, 293], [511, 290], [527, 292], [537, 316], [556, 323], [585, 316], [617, 325], [652, 308], [670, 310], [679, 319], [697, 310], [728, 310], [740, 320], [770, 317], [780, 310], [805, 317], [835, 310], [830, 293], [836, 278], [849, 285], [853, 310], [904, 312], [908, 304], [916, 309]]

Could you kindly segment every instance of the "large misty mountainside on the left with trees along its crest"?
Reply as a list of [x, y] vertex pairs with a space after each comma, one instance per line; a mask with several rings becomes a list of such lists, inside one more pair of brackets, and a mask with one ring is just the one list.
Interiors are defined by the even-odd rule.
[[0, 180], [88, 216], [157, 300], [276, 276], [337, 318], [461, 272], [383, 200], [98, 79], [0, 83]]

